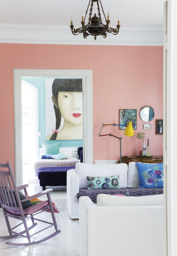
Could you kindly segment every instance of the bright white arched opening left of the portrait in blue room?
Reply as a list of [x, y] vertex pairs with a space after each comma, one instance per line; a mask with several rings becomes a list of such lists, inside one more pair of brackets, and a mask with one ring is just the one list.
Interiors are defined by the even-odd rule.
[[35, 159], [38, 158], [38, 89], [22, 80], [22, 153], [23, 184], [35, 179]]

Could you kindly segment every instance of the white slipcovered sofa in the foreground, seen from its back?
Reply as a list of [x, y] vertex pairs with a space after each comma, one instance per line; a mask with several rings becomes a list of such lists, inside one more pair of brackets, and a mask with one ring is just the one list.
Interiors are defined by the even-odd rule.
[[163, 256], [163, 195], [100, 194], [97, 205], [79, 199], [80, 256]]

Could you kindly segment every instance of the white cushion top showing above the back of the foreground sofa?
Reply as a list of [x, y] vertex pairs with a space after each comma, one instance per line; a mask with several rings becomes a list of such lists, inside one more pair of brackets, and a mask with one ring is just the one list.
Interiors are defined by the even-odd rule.
[[97, 196], [97, 205], [163, 205], [163, 195], [152, 195], [142, 197], [115, 197], [112, 195], [99, 194]]

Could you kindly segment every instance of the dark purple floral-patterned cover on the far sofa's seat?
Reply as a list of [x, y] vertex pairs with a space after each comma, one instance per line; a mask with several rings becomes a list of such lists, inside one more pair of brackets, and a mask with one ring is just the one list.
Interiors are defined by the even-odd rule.
[[87, 196], [87, 197], [90, 197], [93, 203], [96, 203], [96, 197], [99, 194], [126, 195], [127, 190], [128, 190], [129, 197], [140, 197], [140, 196], [163, 194], [162, 188], [156, 188], [156, 189], [120, 188], [120, 189], [95, 189], [95, 190], [82, 188], [82, 189], [79, 189], [79, 193], [77, 193], [77, 199], [79, 199], [79, 197], [82, 197], [82, 196]]

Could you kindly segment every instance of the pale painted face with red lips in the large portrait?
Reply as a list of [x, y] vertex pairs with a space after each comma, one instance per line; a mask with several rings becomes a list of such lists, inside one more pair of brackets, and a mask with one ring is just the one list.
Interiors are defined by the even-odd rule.
[[82, 92], [58, 92], [58, 106], [65, 122], [82, 124]]

